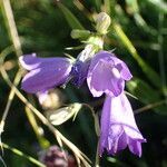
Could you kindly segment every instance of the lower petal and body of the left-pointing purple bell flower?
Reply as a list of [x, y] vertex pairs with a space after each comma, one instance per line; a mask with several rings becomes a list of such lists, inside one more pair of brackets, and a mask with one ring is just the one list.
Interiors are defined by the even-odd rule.
[[[41, 58], [42, 59], [42, 58]], [[48, 61], [49, 59], [49, 61]], [[27, 92], [38, 92], [48, 90], [53, 86], [61, 85], [68, 78], [71, 71], [71, 63], [67, 58], [42, 59], [41, 63], [31, 63], [36, 68], [22, 79], [22, 89]], [[52, 61], [51, 61], [52, 60]], [[27, 63], [30, 65], [30, 63]], [[38, 67], [38, 68], [37, 68]]]

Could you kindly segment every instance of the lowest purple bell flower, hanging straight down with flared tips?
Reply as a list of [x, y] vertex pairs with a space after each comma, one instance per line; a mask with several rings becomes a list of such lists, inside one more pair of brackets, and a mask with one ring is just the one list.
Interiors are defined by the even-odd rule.
[[141, 156], [141, 143], [146, 143], [140, 134], [134, 112], [125, 94], [118, 97], [107, 96], [100, 119], [100, 156], [105, 150], [110, 155], [125, 149]]

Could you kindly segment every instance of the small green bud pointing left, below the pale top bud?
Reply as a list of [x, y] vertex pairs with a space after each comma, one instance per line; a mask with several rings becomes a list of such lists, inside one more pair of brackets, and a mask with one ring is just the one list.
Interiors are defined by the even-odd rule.
[[90, 36], [90, 31], [88, 31], [88, 30], [75, 29], [71, 31], [71, 37], [73, 39], [87, 39], [89, 36]]

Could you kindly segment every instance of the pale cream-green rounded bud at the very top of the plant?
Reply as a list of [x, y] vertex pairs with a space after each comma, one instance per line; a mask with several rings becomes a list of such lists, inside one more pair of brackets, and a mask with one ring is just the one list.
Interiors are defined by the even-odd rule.
[[106, 12], [100, 12], [95, 19], [95, 21], [96, 21], [96, 30], [101, 35], [106, 35], [111, 23], [110, 17]]

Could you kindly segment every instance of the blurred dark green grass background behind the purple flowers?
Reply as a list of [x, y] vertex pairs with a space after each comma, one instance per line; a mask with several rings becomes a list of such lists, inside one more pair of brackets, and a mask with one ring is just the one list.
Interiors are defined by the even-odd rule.
[[[105, 38], [105, 49], [116, 49], [115, 53], [127, 62], [134, 75], [134, 79], [127, 84], [127, 90], [138, 98], [137, 100], [129, 97], [129, 100], [136, 112], [137, 125], [147, 139], [143, 145], [143, 157], [138, 158], [126, 149], [116, 157], [105, 155], [101, 158], [101, 166], [167, 167], [165, 102], [167, 99], [167, 2], [163, 0], [11, 0], [23, 53], [37, 52], [41, 57], [55, 57], [67, 52], [77, 57], [81, 51], [65, 50], [68, 47], [80, 46], [80, 42], [71, 39], [70, 32], [72, 28], [77, 28], [77, 24], [72, 23], [70, 14], [60, 3], [70, 10], [86, 29], [92, 31], [95, 31], [94, 16], [106, 11], [111, 17], [112, 23]], [[2, 3], [0, 4], [0, 51], [2, 51], [11, 46], [12, 41]], [[13, 80], [18, 70], [18, 59], [14, 53], [7, 56], [4, 68]], [[65, 97], [65, 104], [88, 102], [97, 111], [101, 109], [104, 98], [94, 99], [86, 85], [81, 89], [68, 85], [60, 91]], [[1, 116], [9, 92], [10, 88], [1, 77]], [[41, 112], [45, 110], [35, 96], [28, 98]], [[46, 139], [51, 145], [57, 144], [48, 129], [40, 122], [39, 125], [45, 130]], [[97, 137], [91, 112], [87, 108], [79, 112], [73, 122], [69, 120], [58, 129], [95, 161]], [[36, 158], [38, 151], [42, 150], [27, 118], [24, 106], [17, 97], [7, 117], [2, 141]], [[2, 158], [9, 167], [33, 166], [9, 150], [4, 150]]]

